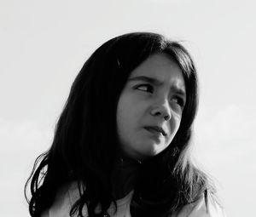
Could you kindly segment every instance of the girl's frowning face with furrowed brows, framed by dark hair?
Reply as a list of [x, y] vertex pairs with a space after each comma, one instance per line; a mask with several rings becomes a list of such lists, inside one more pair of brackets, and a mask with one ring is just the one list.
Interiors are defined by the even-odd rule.
[[179, 128], [186, 89], [177, 63], [153, 54], [128, 78], [117, 106], [119, 145], [128, 157], [144, 159], [165, 150]]

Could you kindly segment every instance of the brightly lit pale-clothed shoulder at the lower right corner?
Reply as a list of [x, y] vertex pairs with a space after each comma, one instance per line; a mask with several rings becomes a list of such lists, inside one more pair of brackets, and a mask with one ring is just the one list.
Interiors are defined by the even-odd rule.
[[195, 203], [185, 205], [172, 217], [226, 217], [224, 208], [210, 191], [206, 191]]

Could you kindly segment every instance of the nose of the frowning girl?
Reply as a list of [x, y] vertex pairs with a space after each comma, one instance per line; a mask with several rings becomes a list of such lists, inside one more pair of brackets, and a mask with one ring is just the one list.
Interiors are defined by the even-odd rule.
[[150, 114], [152, 116], [162, 117], [166, 121], [170, 120], [172, 117], [169, 103], [166, 101], [162, 103], [154, 104], [154, 106], [152, 106], [151, 108]]

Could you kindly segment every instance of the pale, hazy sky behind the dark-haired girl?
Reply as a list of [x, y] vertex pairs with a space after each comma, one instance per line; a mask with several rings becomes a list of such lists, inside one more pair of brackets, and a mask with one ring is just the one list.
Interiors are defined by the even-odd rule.
[[0, 0], [0, 215], [28, 216], [26, 178], [89, 55], [111, 37], [156, 31], [182, 41], [199, 71], [196, 162], [215, 180], [228, 216], [253, 216], [255, 7], [253, 0]]

